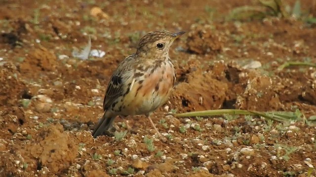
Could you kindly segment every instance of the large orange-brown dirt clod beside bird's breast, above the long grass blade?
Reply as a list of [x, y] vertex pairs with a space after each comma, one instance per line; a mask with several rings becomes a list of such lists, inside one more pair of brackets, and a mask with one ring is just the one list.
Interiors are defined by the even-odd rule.
[[180, 83], [170, 99], [178, 111], [219, 109], [225, 101], [228, 85], [213, 79], [200, 70], [188, 74], [187, 82]]

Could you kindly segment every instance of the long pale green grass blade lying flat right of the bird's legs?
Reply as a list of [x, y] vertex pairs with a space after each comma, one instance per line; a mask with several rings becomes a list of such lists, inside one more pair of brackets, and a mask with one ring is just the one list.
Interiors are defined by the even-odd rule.
[[174, 114], [175, 117], [201, 117], [201, 116], [218, 116], [218, 115], [252, 115], [268, 118], [276, 121], [291, 121], [300, 119], [300, 115], [294, 112], [259, 112], [259, 111], [248, 111], [248, 110], [206, 110], [196, 111], [189, 113]]

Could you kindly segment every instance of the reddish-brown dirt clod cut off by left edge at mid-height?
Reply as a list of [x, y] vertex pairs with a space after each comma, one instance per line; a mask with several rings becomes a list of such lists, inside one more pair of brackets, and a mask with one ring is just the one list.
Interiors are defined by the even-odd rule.
[[0, 69], [0, 106], [16, 105], [22, 94], [26, 89], [24, 83], [20, 80], [20, 74], [14, 64], [4, 63]]

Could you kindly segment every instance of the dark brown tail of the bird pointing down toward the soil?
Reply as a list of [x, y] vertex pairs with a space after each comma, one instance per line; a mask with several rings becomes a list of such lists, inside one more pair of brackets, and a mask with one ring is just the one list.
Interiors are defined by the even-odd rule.
[[98, 124], [94, 127], [92, 136], [96, 138], [97, 136], [102, 135], [104, 131], [108, 130], [112, 126], [115, 118], [116, 116], [113, 116], [110, 112], [106, 111], [103, 114], [103, 117], [100, 118]]

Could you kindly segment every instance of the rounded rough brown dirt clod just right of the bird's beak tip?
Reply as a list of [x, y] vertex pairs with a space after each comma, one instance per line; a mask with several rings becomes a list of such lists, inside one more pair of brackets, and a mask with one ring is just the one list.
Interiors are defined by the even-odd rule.
[[197, 54], [216, 54], [222, 51], [224, 36], [210, 25], [193, 26], [188, 34], [187, 46], [189, 51]]

